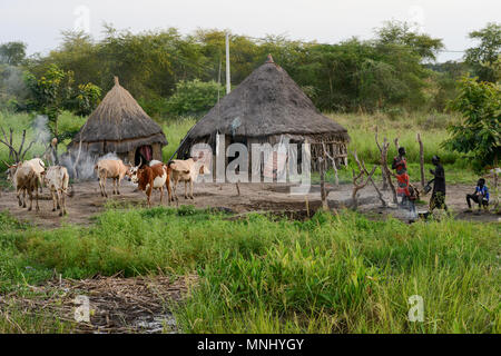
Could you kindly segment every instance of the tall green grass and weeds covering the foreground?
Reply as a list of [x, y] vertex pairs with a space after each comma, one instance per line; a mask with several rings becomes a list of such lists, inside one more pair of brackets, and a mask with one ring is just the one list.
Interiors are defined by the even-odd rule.
[[[306, 221], [242, 220], [191, 207], [116, 209], [91, 227], [40, 230], [0, 214], [0, 293], [52, 278], [196, 273], [170, 306], [183, 333], [500, 333], [500, 228], [444, 219], [405, 225], [351, 211]], [[424, 322], [407, 318], [409, 297]], [[0, 332], [71, 332], [21, 313]]]

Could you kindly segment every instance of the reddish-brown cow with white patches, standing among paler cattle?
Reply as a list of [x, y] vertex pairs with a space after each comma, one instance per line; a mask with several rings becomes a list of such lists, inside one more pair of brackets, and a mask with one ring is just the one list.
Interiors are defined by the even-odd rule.
[[151, 207], [151, 192], [154, 189], [160, 190], [160, 204], [164, 198], [164, 186], [167, 186], [168, 204], [173, 200], [170, 189], [170, 169], [164, 164], [154, 166], [139, 165], [131, 168], [130, 179], [138, 185], [139, 190], [146, 192], [148, 206]]

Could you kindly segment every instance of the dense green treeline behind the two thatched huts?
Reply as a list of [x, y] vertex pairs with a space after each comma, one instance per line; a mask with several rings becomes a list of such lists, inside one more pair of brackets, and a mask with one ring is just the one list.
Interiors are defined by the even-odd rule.
[[[493, 27], [494, 39], [499, 39], [499, 26], [489, 26]], [[169, 28], [132, 33], [105, 26], [100, 40], [81, 32], [62, 34], [60, 46], [47, 56], [26, 58], [23, 43], [7, 43], [14, 47], [11, 49], [2, 46], [0, 105], [26, 109], [22, 71], [41, 78], [53, 65], [72, 71], [77, 85], [98, 86], [101, 96], [111, 88], [112, 77], [118, 76], [156, 119], [202, 115], [225, 93], [220, 85], [225, 83], [224, 31], [200, 29], [181, 34]], [[468, 60], [434, 63], [443, 48], [441, 39], [397, 21], [384, 23], [371, 40], [351, 38], [336, 44], [292, 41], [281, 36], [254, 39], [232, 34], [232, 86], [272, 53], [322, 111], [384, 111], [390, 116], [443, 111], [456, 96], [458, 79], [475, 70]], [[499, 51], [494, 55], [499, 56]], [[489, 71], [484, 66], [478, 68], [481, 70]]]

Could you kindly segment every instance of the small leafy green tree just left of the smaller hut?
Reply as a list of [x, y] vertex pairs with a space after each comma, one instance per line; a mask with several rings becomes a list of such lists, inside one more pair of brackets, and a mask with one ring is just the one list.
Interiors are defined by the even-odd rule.
[[73, 73], [63, 71], [56, 65], [51, 65], [40, 78], [27, 71], [24, 81], [30, 91], [28, 107], [48, 117], [52, 123], [50, 129], [58, 141], [63, 138], [58, 129], [61, 111], [88, 115], [97, 106], [101, 95], [100, 88], [92, 83], [75, 86]]

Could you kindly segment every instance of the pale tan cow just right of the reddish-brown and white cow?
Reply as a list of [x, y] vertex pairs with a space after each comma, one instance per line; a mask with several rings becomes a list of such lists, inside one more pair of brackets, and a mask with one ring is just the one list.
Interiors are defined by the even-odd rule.
[[189, 198], [194, 199], [194, 181], [197, 180], [198, 175], [207, 175], [210, 172], [207, 166], [197, 157], [191, 157], [186, 160], [174, 159], [167, 166], [173, 170], [173, 191], [176, 200], [178, 200], [176, 188], [179, 181], [185, 182], [185, 199], [188, 199], [186, 185], [189, 182]]

